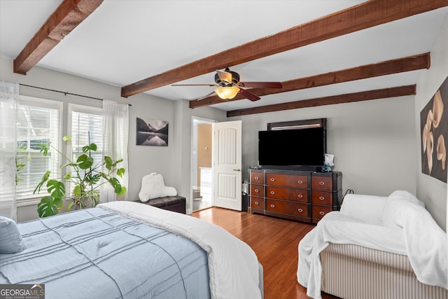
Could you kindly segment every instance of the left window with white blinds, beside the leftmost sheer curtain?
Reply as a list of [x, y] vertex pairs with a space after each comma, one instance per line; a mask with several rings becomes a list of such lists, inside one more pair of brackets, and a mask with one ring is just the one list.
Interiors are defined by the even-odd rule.
[[43, 156], [40, 145], [50, 142], [59, 148], [62, 103], [21, 96], [16, 111], [16, 199], [20, 201], [38, 197], [34, 188], [48, 169], [52, 176], [60, 175], [59, 154], [50, 149], [48, 156]]

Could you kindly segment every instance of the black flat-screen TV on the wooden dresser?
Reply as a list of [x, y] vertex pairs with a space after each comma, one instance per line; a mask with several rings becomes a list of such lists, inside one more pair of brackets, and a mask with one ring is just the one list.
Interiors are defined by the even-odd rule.
[[262, 167], [323, 166], [323, 127], [258, 132], [258, 164]]

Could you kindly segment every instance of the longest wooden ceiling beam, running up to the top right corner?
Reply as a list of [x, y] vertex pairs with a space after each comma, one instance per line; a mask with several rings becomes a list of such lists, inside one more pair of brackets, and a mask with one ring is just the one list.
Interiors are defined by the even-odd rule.
[[232, 67], [262, 57], [357, 32], [387, 22], [448, 6], [447, 0], [371, 0], [311, 22], [286, 29], [190, 62], [176, 69], [151, 76], [121, 88], [122, 97], [130, 97], [154, 88]]

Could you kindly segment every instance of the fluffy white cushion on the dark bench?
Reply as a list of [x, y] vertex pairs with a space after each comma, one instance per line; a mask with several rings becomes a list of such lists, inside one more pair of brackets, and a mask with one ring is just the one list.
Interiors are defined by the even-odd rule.
[[139, 192], [139, 199], [142, 202], [147, 202], [153, 198], [176, 196], [177, 191], [174, 187], [165, 186], [162, 174], [146, 174], [141, 179], [141, 189]]

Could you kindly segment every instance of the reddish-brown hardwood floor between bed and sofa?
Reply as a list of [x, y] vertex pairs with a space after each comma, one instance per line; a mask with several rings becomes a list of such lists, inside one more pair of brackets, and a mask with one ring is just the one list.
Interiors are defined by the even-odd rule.
[[297, 283], [297, 246], [314, 225], [217, 207], [192, 216], [221, 226], [251, 246], [263, 266], [265, 299], [309, 298]]

